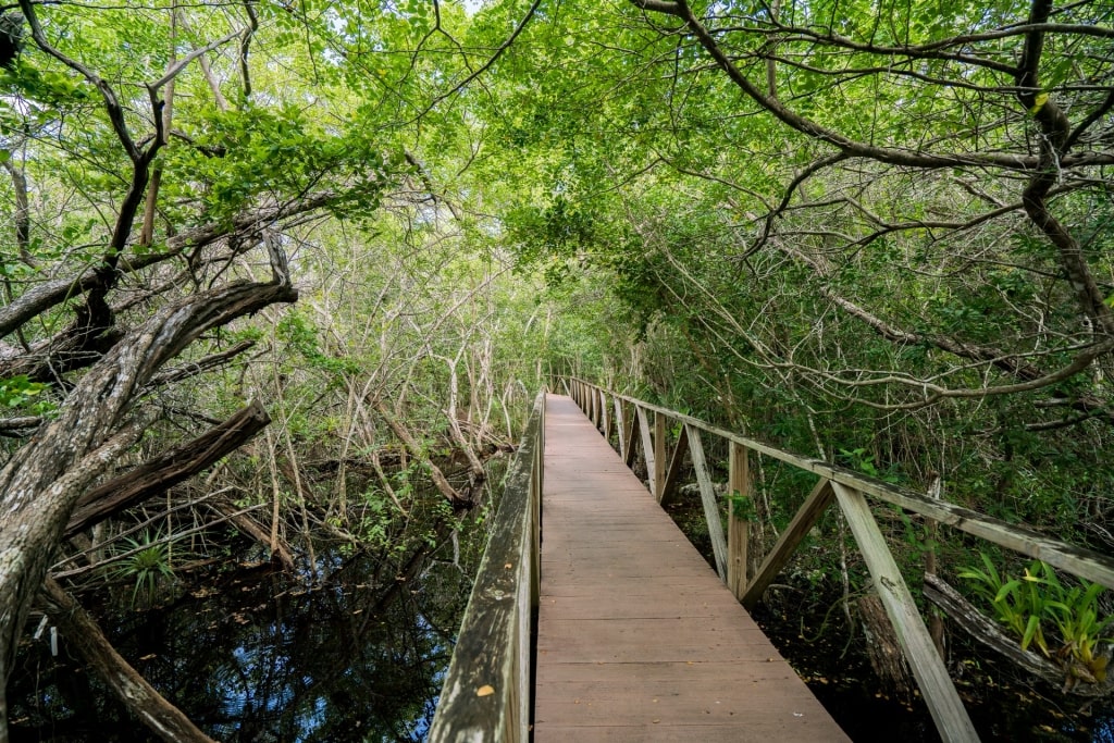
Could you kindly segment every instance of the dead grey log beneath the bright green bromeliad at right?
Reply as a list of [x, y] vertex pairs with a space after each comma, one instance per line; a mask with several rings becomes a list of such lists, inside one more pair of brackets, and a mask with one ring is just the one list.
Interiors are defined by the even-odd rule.
[[1114, 692], [1114, 680], [1111, 676], [1107, 676], [1101, 683], [1089, 684], [1075, 678], [1059, 664], [1036, 653], [1023, 651], [1017, 639], [1007, 636], [998, 629], [997, 624], [971, 606], [970, 602], [964, 598], [959, 592], [949, 586], [939, 576], [925, 576], [925, 597], [940, 607], [971, 638], [1053, 686], [1061, 687], [1064, 692], [1077, 696], [1097, 697], [1106, 696]]

